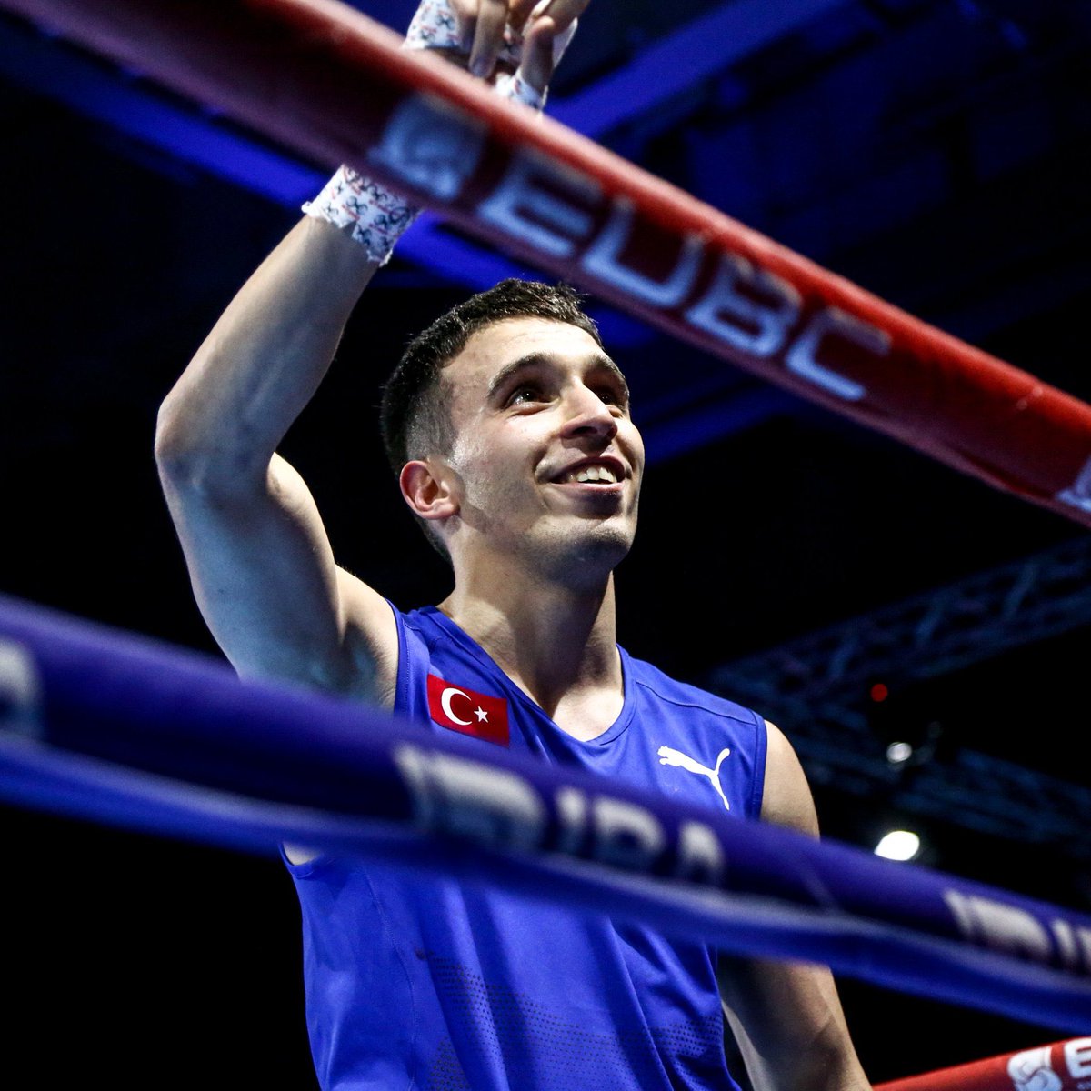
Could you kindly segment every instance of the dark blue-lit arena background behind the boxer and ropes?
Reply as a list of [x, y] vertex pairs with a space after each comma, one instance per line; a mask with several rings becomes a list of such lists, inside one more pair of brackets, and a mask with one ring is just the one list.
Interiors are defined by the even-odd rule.
[[[412, 10], [359, 7], [398, 29]], [[789, 5], [594, 0], [551, 109], [594, 97], [690, 21], [732, 7], [762, 31]], [[711, 74], [600, 139], [1088, 397], [1088, 5], [813, 7], [753, 47], [710, 43]], [[200, 134], [136, 130], [151, 104], [237, 137], [239, 156], [265, 147], [252, 134], [2, 15], [0, 79], [0, 591], [218, 655], [159, 495], [155, 415], [298, 202], [255, 192], [235, 153], [208, 153]], [[328, 172], [304, 166], [320, 182]], [[340, 563], [405, 608], [442, 597], [447, 574], [385, 470], [377, 384], [406, 340], [473, 287], [399, 251], [284, 447]], [[618, 574], [621, 640], [678, 676], [703, 681], [1086, 536], [591, 304], [649, 440], [642, 529]], [[715, 624], [695, 625], [695, 610]], [[942, 724], [937, 762], [971, 748], [1023, 767], [1031, 795], [1047, 777], [1086, 790], [1088, 620], [1070, 610], [1048, 638], [1028, 631], [972, 666], [899, 678], [895, 712], [907, 731]], [[983, 640], [990, 624], [985, 603]], [[853, 699], [874, 711], [865, 687]], [[805, 735], [805, 724], [783, 726]], [[871, 848], [895, 817], [889, 800], [836, 770], [808, 771], [826, 836]], [[14, 808], [0, 817], [14, 1004], [5, 1064], [43, 1087], [313, 1086], [298, 910], [276, 860]], [[1035, 836], [1033, 808], [1026, 830], [1003, 837], [963, 817], [956, 801], [918, 822], [927, 866], [1091, 909], [1087, 854]], [[874, 1081], [1063, 1036], [848, 980], [842, 994]]]

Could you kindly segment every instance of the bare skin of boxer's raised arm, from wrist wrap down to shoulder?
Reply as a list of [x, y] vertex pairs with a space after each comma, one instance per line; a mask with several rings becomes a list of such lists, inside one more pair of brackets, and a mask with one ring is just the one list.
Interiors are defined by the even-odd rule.
[[156, 435], [197, 603], [236, 669], [364, 696], [382, 688], [393, 618], [336, 568], [310, 492], [275, 451], [376, 268], [348, 235], [304, 217], [216, 323]]

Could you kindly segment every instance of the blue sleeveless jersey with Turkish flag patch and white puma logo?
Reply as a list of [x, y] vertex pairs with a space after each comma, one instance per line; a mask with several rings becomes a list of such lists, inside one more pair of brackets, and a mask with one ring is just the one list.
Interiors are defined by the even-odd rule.
[[[582, 742], [439, 610], [395, 616], [398, 715], [758, 816], [755, 712], [621, 651], [622, 712]], [[738, 1091], [703, 944], [355, 858], [288, 868], [326, 1091]]]

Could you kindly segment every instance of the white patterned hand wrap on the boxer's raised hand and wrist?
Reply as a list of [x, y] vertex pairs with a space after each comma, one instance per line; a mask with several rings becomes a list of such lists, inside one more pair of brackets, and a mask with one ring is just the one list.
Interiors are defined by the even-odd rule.
[[[532, 16], [549, 4], [541, 0]], [[554, 67], [576, 33], [576, 23], [553, 44]], [[446, 49], [465, 53], [458, 38], [458, 23], [448, 0], [421, 0], [406, 34], [406, 49]], [[547, 93], [538, 92], [523, 76], [523, 36], [512, 27], [504, 29], [504, 47], [500, 60], [515, 67], [515, 72], [496, 77], [495, 91], [514, 103], [541, 111]], [[420, 209], [386, 187], [365, 178], [351, 167], [339, 167], [322, 192], [308, 201], [302, 209], [308, 216], [324, 219], [351, 235], [380, 265], [391, 260], [394, 247], [406, 229], [420, 215]]]

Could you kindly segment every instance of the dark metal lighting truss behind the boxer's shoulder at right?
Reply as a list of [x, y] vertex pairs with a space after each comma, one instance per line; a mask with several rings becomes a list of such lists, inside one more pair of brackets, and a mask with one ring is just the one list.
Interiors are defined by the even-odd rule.
[[934, 678], [1091, 623], [1080, 538], [718, 668], [716, 693], [789, 731], [816, 784], [1091, 861], [1091, 790], [971, 750], [894, 764], [861, 703], [870, 681]]

